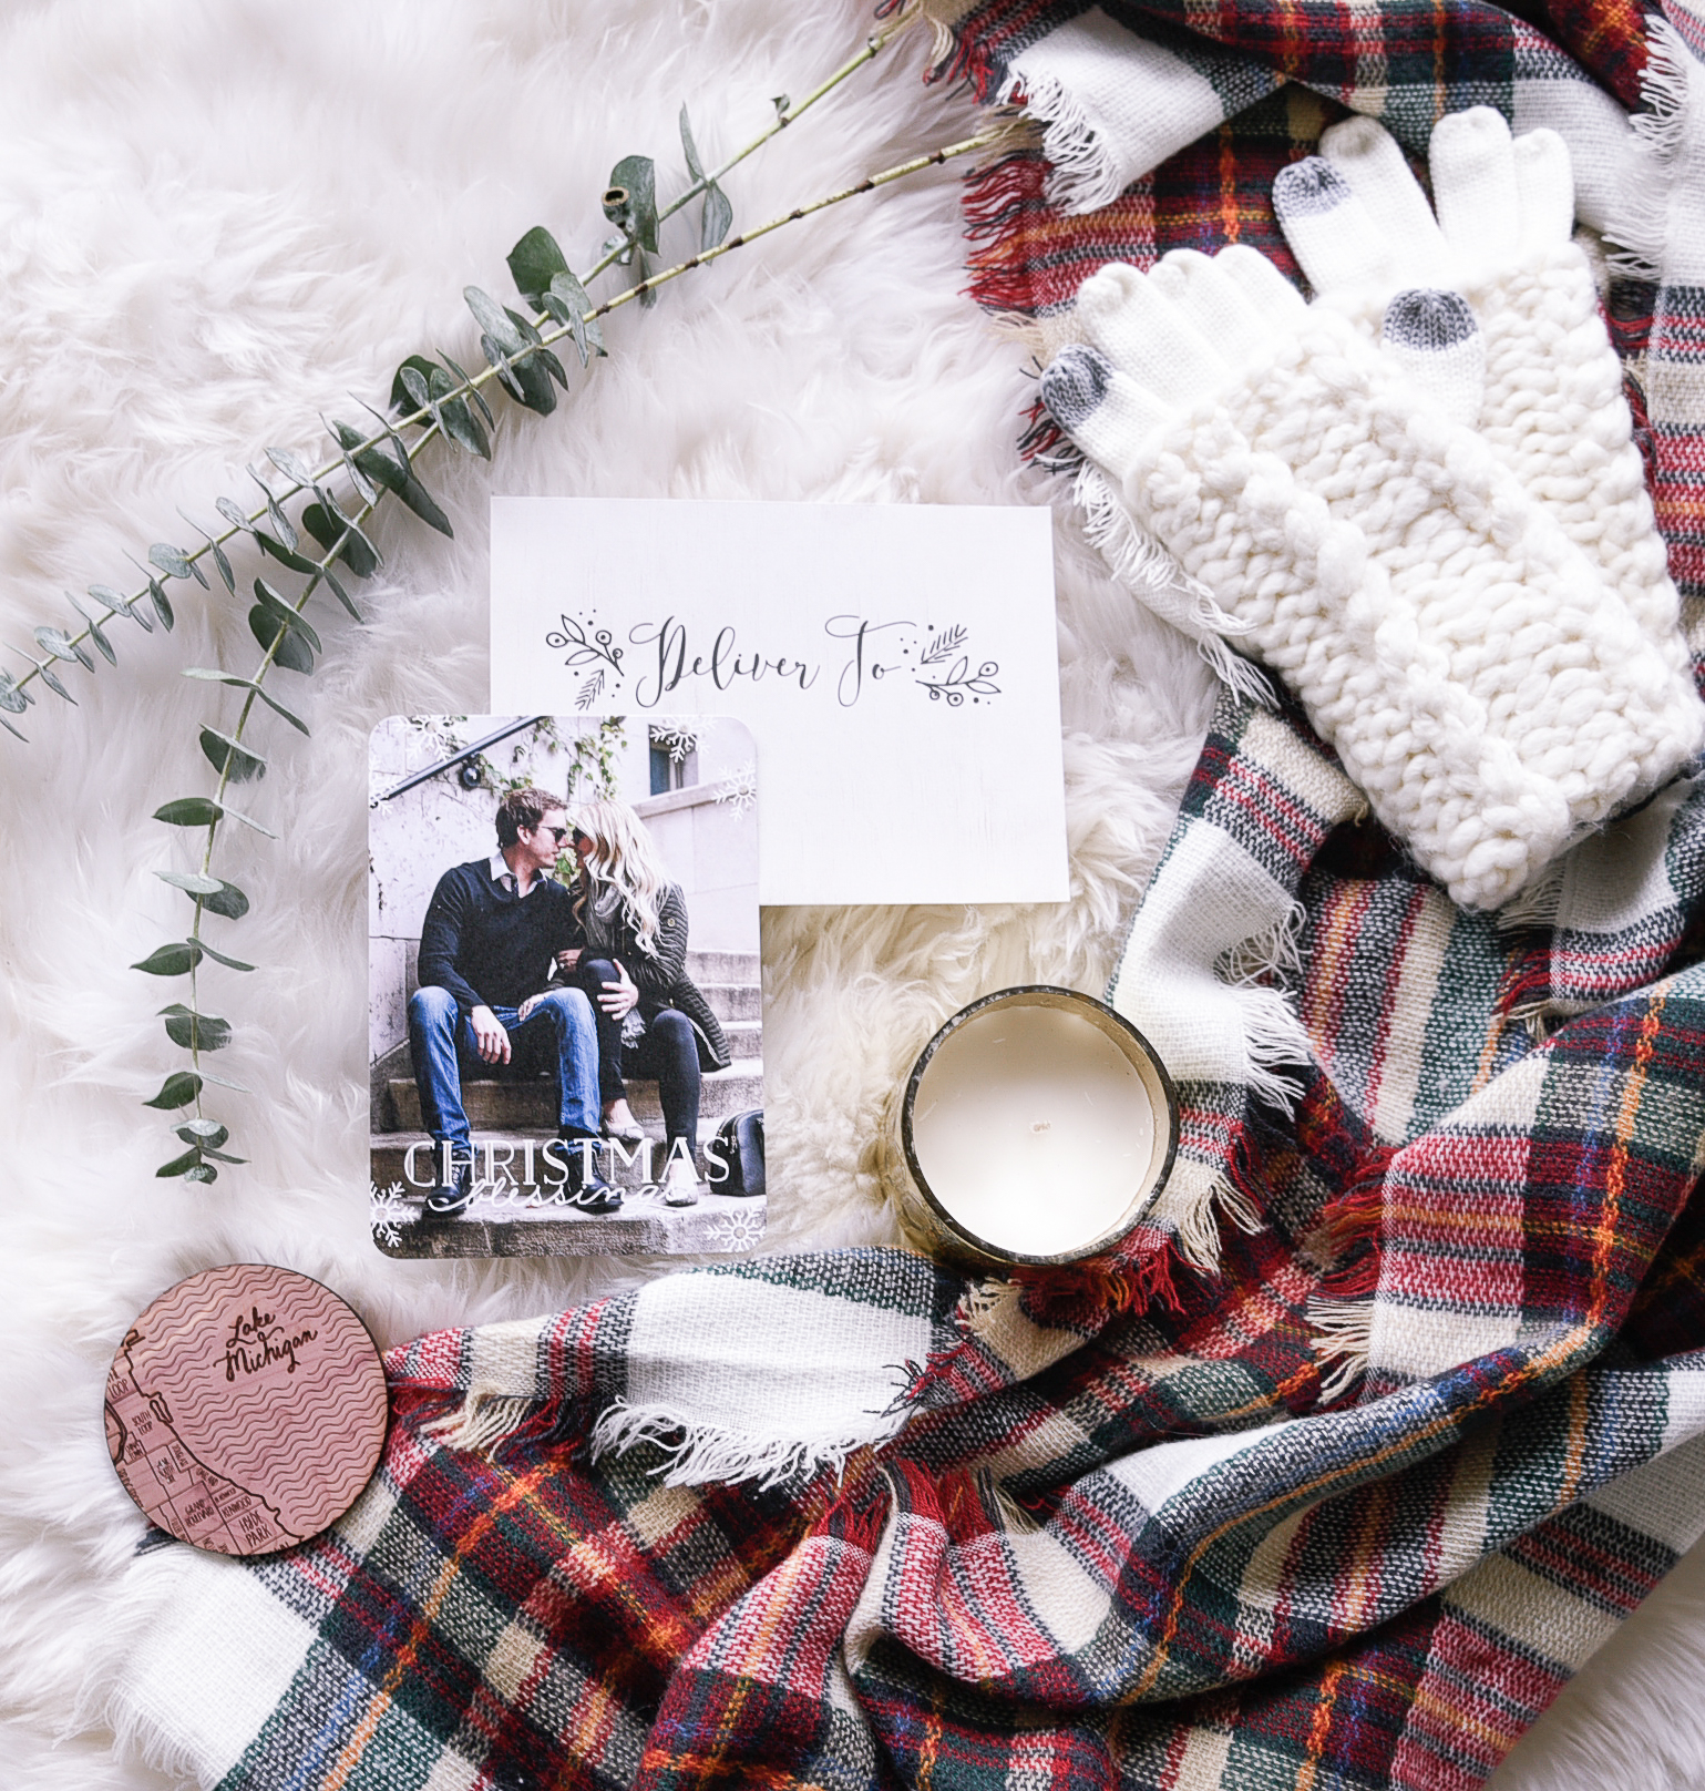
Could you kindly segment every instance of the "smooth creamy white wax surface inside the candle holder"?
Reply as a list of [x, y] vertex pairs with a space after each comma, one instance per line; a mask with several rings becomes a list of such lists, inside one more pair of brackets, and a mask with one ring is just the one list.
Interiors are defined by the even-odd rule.
[[1092, 1019], [1012, 1003], [947, 1033], [919, 1078], [912, 1148], [930, 1193], [1017, 1255], [1082, 1254], [1153, 1186], [1155, 1103]]

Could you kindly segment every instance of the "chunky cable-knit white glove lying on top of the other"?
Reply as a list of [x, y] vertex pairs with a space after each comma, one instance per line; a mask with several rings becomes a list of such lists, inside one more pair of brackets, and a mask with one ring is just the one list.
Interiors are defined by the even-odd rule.
[[1078, 319], [1042, 398], [1182, 570], [1139, 595], [1279, 672], [1456, 901], [1503, 904], [1698, 749], [1598, 568], [1343, 312], [1230, 247], [1103, 267]]

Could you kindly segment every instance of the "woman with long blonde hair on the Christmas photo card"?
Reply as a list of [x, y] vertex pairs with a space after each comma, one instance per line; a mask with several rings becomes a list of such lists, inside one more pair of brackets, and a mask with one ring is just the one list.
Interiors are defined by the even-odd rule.
[[731, 1057], [709, 1001], [686, 974], [686, 897], [627, 802], [582, 802], [571, 820], [578, 946], [559, 962], [598, 1023], [604, 1135], [630, 1144], [645, 1137], [627, 1105], [625, 1076], [655, 1076], [664, 1198], [686, 1205], [698, 1198], [700, 1076], [725, 1069]]

